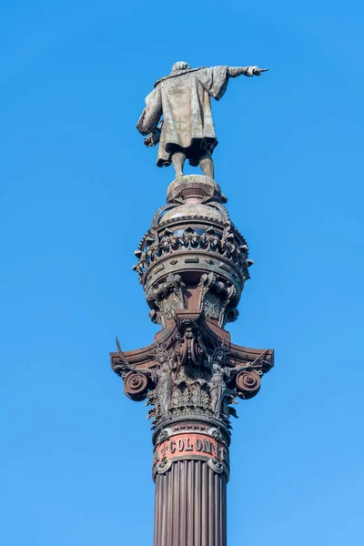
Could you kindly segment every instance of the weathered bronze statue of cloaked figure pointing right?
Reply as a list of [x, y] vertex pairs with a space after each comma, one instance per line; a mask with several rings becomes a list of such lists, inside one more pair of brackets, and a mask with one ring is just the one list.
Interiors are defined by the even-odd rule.
[[211, 97], [220, 100], [232, 77], [260, 76], [267, 70], [258, 66], [191, 68], [183, 61], [175, 63], [172, 72], [155, 83], [136, 124], [142, 135], [148, 135], [144, 141], [147, 147], [159, 143], [157, 166], [168, 167], [172, 163], [180, 177], [188, 159], [190, 165], [199, 165], [206, 177], [213, 178], [212, 153], [217, 147], [217, 136]]

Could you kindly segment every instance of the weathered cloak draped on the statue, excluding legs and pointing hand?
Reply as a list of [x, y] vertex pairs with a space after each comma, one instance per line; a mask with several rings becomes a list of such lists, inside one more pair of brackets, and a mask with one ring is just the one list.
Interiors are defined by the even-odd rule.
[[163, 116], [157, 166], [170, 165], [171, 156], [183, 151], [196, 166], [204, 150], [217, 146], [211, 113], [211, 96], [219, 100], [227, 89], [227, 66], [185, 70], [162, 78], [146, 98], [136, 128], [148, 135]]

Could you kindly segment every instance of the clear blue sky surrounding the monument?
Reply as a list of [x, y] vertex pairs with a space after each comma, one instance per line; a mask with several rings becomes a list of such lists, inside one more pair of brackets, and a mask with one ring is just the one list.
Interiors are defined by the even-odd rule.
[[363, 15], [2, 3], [2, 545], [152, 545], [147, 409], [108, 352], [156, 332], [130, 268], [173, 171], [135, 124], [177, 60], [270, 67], [214, 105], [216, 178], [256, 262], [229, 330], [276, 349], [233, 423], [228, 544], [363, 543]]

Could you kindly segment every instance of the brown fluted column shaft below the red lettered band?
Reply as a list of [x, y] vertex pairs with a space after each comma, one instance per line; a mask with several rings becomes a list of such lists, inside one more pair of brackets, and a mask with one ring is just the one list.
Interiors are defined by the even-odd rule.
[[202, 460], [156, 476], [154, 546], [227, 546], [227, 477]]

